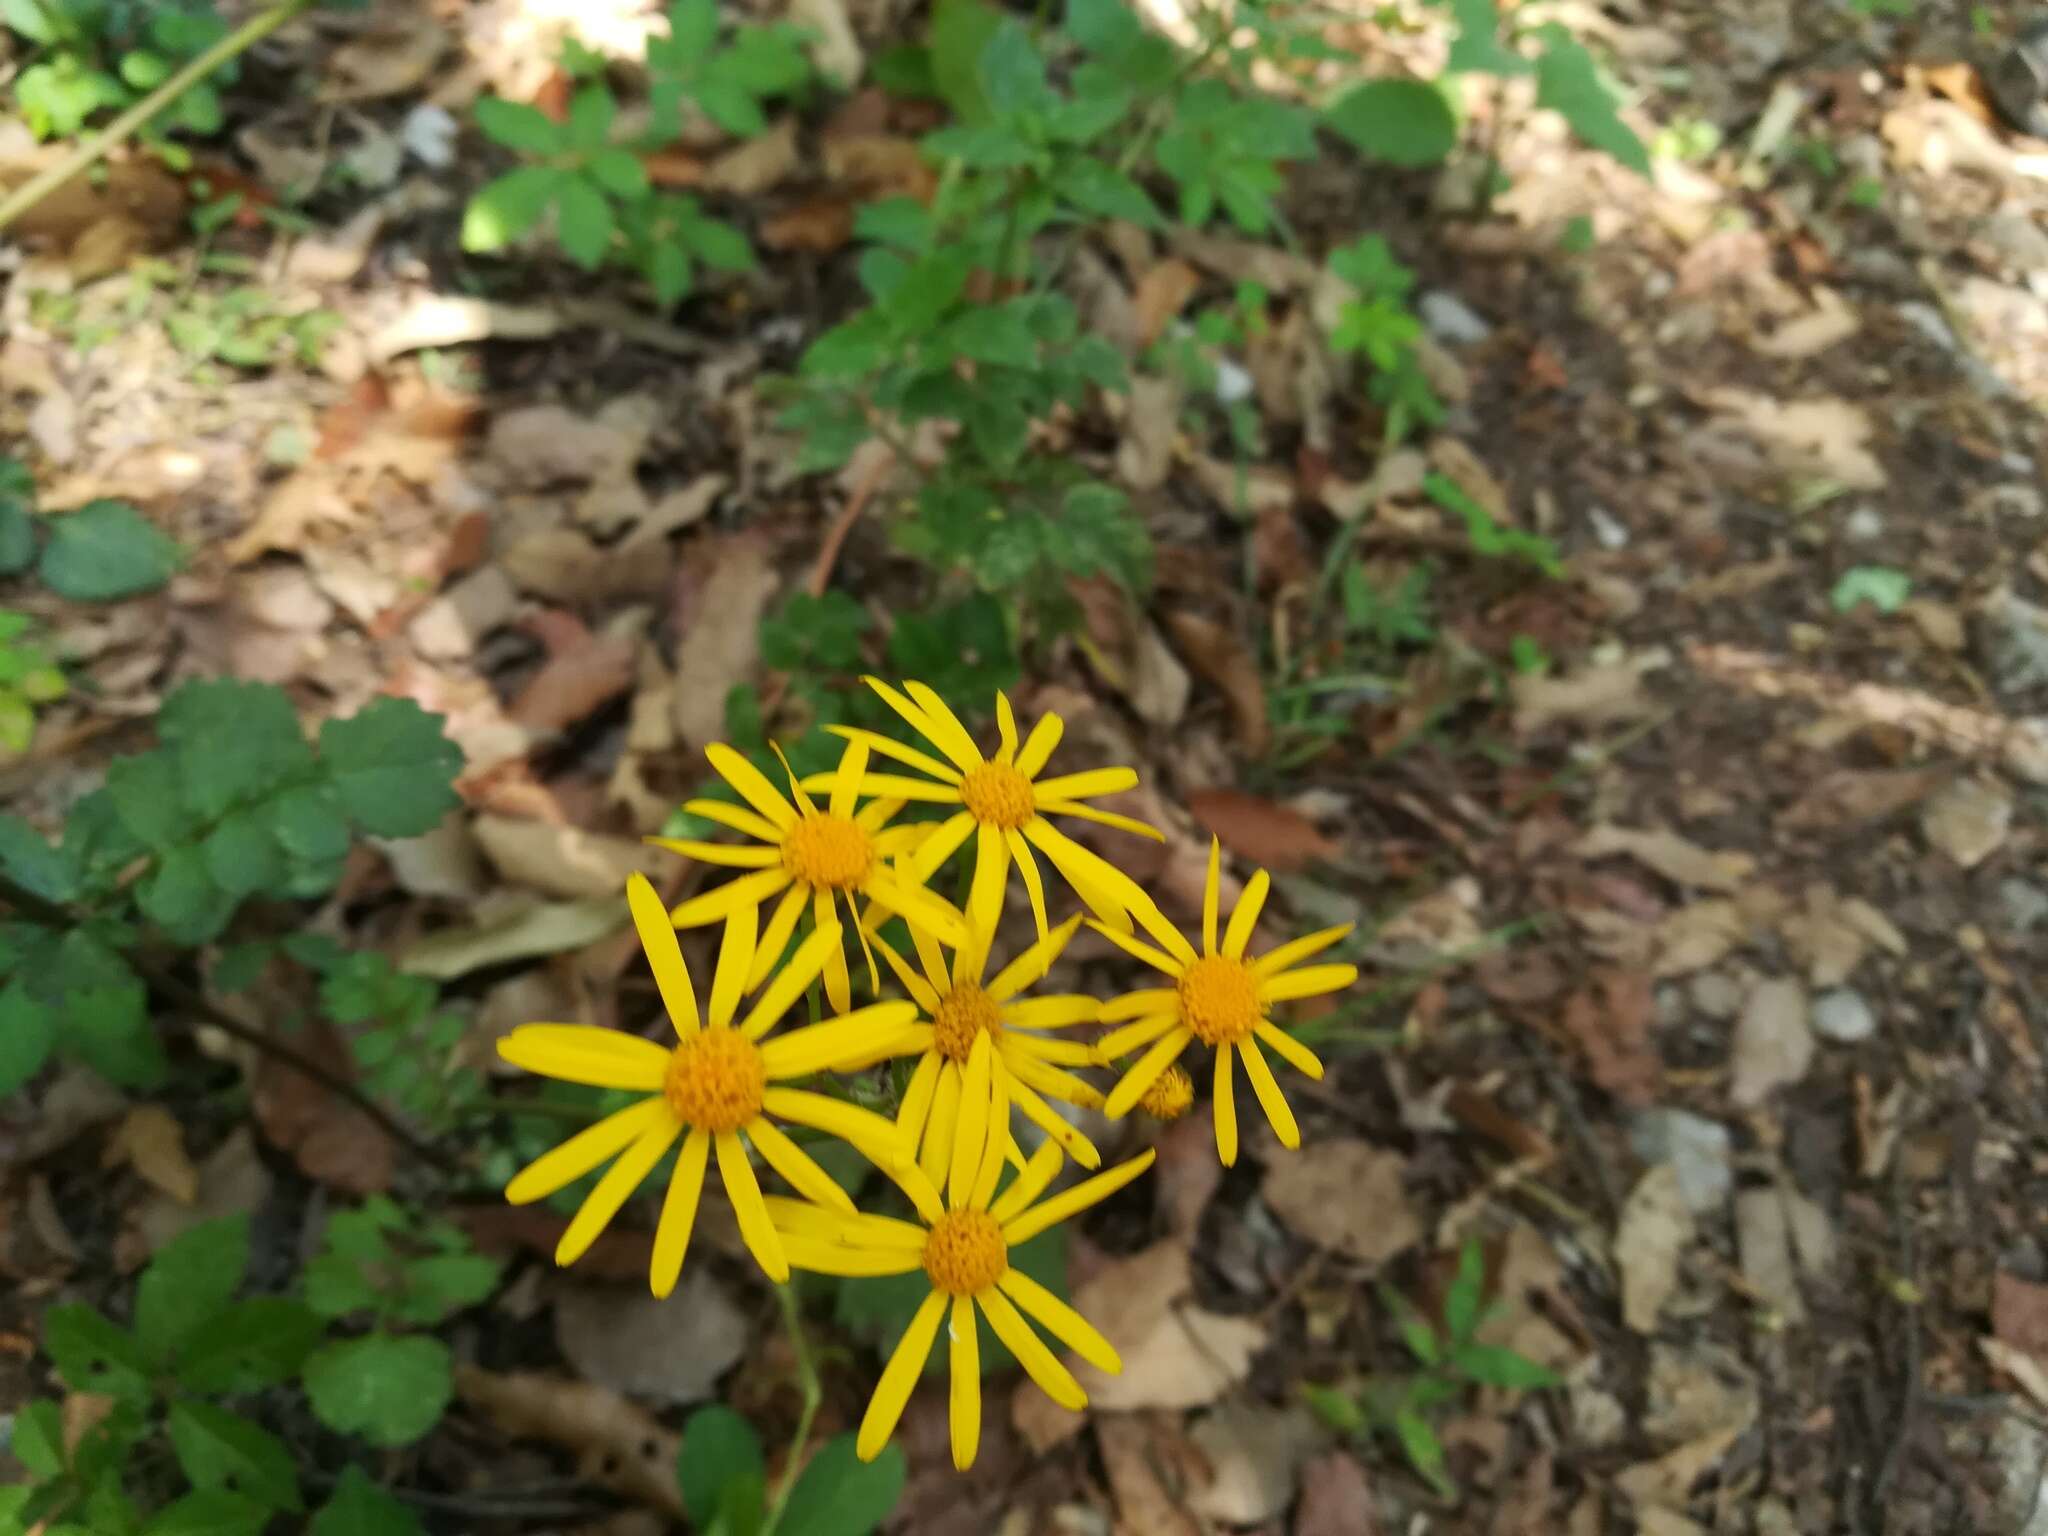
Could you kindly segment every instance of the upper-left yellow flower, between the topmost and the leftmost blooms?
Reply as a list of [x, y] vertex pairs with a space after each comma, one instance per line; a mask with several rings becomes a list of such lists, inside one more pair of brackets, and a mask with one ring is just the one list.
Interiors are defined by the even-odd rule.
[[[915, 846], [928, 829], [887, 825], [889, 817], [903, 809], [901, 801], [874, 801], [858, 815], [854, 813], [858, 793], [854, 786], [868, 766], [866, 743], [848, 743], [831, 776], [831, 799], [823, 811], [795, 782], [791, 782], [791, 791], [797, 803], [791, 805], [752, 762], [723, 741], [705, 748], [705, 756], [754, 809], [743, 811], [719, 801], [688, 801], [682, 809], [750, 838], [760, 838], [762, 846], [678, 838], [649, 838], [649, 842], [707, 864], [752, 870], [676, 907], [670, 913], [676, 928], [700, 928], [741, 907], [760, 905], [774, 895], [782, 897], [768, 918], [760, 948], [754, 952], [754, 965], [745, 979], [748, 991], [754, 991], [782, 958], [805, 901], [811, 905], [817, 928], [829, 928], [838, 922], [838, 901], [844, 899], [852, 909], [852, 899], [864, 895], [874, 905], [901, 913], [905, 922], [938, 934], [948, 944], [967, 938], [967, 926], [948, 901], [922, 885], [903, 881], [897, 870], [889, 868], [889, 856]], [[862, 946], [866, 946], [866, 934], [858, 924], [856, 932], [862, 934]], [[874, 956], [868, 954], [868, 985], [877, 983]], [[825, 997], [840, 1012], [852, 1006], [852, 979], [846, 975], [844, 950], [825, 956]]]

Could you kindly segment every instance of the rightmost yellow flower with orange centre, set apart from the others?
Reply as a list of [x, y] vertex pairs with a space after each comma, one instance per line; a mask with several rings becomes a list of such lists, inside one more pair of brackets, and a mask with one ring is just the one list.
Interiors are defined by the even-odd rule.
[[1200, 1040], [1217, 1049], [1217, 1155], [1225, 1167], [1237, 1161], [1237, 1104], [1231, 1096], [1231, 1059], [1243, 1057], [1251, 1092], [1257, 1094], [1274, 1135], [1284, 1147], [1300, 1145], [1300, 1128], [1294, 1112], [1280, 1096], [1272, 1067], [1260, 1042], [1272, 1049], [1288, 1065], [1309, 1077], [1323, 1075], [1323, 1063], [1300, 1040], [1280, 1030], [1266, 1018], [1266, 1010], [1290, 997], [1315, 997], [1337, 991], [1358, 981], [1356, 965], [1309, 965], [1298, 967], [1352, 932], [1352, 924], [1325, 928], [1319, 934], [1296, 938], [1268, 954], [1245, 956], [1251, 928], [1266, 905], [1270, 881], [1260, 870], [1245, 883], [1245, 893], [1237, 899], [1231, 926], [1217, 946], [1217, 887], [1223, 879], [1223, 854], [1214, 840], [1208, 844], [1208, 885], [1202, 891], [1202, 952], [1180, 936], [1157, 911], [1139, 909], [1145, 924], [1163, 950], [1155, 950], [1126, 934], [1118, 934], [1104, 924], [1096, 924], [1112, 942], [1145, 961], [1145, 965], [1174, 977], [1171, 987], [1133, 991], [1102, 1006], [1102, 1018], [1130, 1020], [1122, 1028], [1110, 1030], [1096, 1047], [1106, 1057], [1120, 1057], [1139, 1047], [1149, 1047], [1137, 1063], [1124, 1071], [1116, 1087], [1110, 1090], [1102, 1112], [1112, 1120], [1130, 1114], [1133, 1106], [1159, 1079], [1161, 1073], [1188, 1049], [1190, 1040]]

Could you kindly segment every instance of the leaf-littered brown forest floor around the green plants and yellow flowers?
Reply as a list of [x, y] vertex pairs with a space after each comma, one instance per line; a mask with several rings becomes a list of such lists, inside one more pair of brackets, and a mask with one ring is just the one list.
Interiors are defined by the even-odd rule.
[[[1073, 264], [1133, 352], [1257, 276], [1272, 326], [1237, 362], [1264, 440], [1233, 465], [1163, 389], [1075, 434], [1159, 575], [1094, 594], [1018, 709], [1139, 766], [1126, 809], [1167, 842], [1133, 872], [1174, 918], [1217, 834], [1298, 918], [1360, 920], [1368, 975], [1311, 1026], [1331, 1075], [1296, 1098], [1298, 1157], [1247, 1133], [1219, 1169], [1194, 1114], [1145, 1198], [1069, 1243], [1130, 1362], [1116, 1395], [1051, 1421], [999, 1386], [963, 1479], [928, 1384], [891, 1530], [2048, 1536], [2048, 145], [1987, 113], [1966, 27], [1567, 10], [1640, 92], [1655, 178], [1485, 92], [1491, 203], [1458, 162], [1292, 172], [1309, 252], [1378, 231], [1417, 270], [1452, 412], [1411, 449], [1329, 438], [1350, 385], [1315, 367], [1305, 262], [1118, 227]], [[465, 809], [358, 850], [311, 926], [432, 975], [479, 1040], [651, 1008], [631, 936], [578, 913], [647, 864], [727, 692], [766, 682], [760, 616], [807, 582], [883, 614], [909, 592], [889, 465], [793, 475], [758, 393], [850, 283], [846, 215], [903, 164], [901, 104], [707, 152], [764, 266], [672, 319], [545, 260], [465, 283], [489, 152], [438, 160], [440, 115], [547, 90], [563, 16], [602, 51], [637, 14], [446, 0], [264, 45], [258, 80], [328, 84], [248, 104], [236, 174], [352, 174], [311, 233], [233, 221], [209, 250], [279, 313], [336, 317], [317, 367], [197, 369], [162, 322], [233, 283], [188, 240], [106, 274], [51, 209], [4, 279], [0, 440], [33, 444], [41, 502], [127, 498], [193, 555], [119, 608], [8, 598], [86, 682], [0, 795], [47, 821], [188, 676], [279, 682], [313, 717], [383, 692], [444, 713]], [[854, 25], [872, 53], [899, 23]], [[1552, 539], [1563, 575], [1475, 557], [1432, 469]], [[1360, 651], [1378, 680], [1309, 754], [1270, 664], [1333, 541], [1415, 623]], [[1071, 967], [1114, 969], [1092, 944]], [[41, 1309], [119, 1298], [195, 1212], [250, 1210], [291, 1255], [330, 1202], [420, 1186], [375, 1133], [307, 1137], [319, 1104], [174, 1110], [184, 1200], [121, 1151], [104, 1087], [0, 1104], [0, 1409], [47, 1391]], [[727, 1255], [664, 1311], [637, 1278], [651, 1204], [555, 1272], [559, 1214], [481, 1171], [442, 1198], [512, 1268], [451, 1333], [457, 1409], [385, 1468], [432, 1530], [664, 1528], [643, 1483], [563, 1448], [588, 1436], [510, 1434], [506, 1372], [668, 1427], [719, 1397], [770, 1444], [795, 1417], [776, 1309], [717, 1221]], [[1298, 1389], [1405, 1370], [1372, 1282], [1434, 1311], [1466, 1237], [1487, 1337], [1563, 1386], [1446, 1409], [1440, 1499]], [[823, 1427], [848, 1427], [864, 1348], [825, 1360]]]

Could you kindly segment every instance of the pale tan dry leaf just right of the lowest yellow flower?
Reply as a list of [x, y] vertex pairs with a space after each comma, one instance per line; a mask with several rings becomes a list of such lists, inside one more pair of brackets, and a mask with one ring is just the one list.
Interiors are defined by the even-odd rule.
[[1178, 1239], [1112, 1260], [1073, 1292], [1073, 1305], [1124, 1362], [1120, 1376], [1069, 1362], [1090, 1405], [1104, 1413], [1214, 1403], [1266, 1348], [1257, 1319], [1223, 1317], [1194, 1303], [1188, 1249]]

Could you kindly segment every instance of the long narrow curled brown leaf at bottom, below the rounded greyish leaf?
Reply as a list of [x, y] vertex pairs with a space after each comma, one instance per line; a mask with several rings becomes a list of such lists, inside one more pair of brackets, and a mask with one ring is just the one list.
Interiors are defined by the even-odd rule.
[[647, 1409], [594, 1382], [539, 1372], [455, 1368], [455, 1391], [514, 1440], [575, 1452], [580, 1477], [682, 1520], [676, 1452], [682, 1436]]

